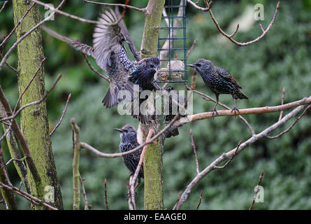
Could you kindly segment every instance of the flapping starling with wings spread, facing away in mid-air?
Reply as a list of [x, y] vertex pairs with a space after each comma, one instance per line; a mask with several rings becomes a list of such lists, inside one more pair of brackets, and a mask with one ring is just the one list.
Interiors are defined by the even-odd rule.
[[96, 25], [94, 29], [93, 47], [79, 41], [73, 41], [71, 38], [57, 34], [47, 27], [43, 27], [43, 29], [55, 38], [71, 44], [76, 50], [80, 50], [96, 59], [96, 64], [106, 71], [110, 79], [110, 89], [106, 97], [103, 98], [103, 105], [107, 108], [112, 108], [124, 100], [124, 96], [119, 96], [122, 98], [118, 99], [118, 93], [121, 90], [128, 90], [131, 94], [131, 99], [134, 94], [133, 83], [128, 80], [129, 73], [133, 69], [134, 64], [126, 56], [123, 42], [129, 43], [133, 55], [136, 56], [137, 52], [135, 46], [133, 46], [133, 41], [131, 41], [130, 36], [125, 31], [124, 23], [118, 19], [111, 8], [101, 13], [99, 22], [101, 24]]

